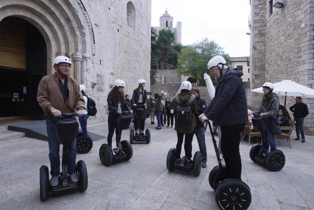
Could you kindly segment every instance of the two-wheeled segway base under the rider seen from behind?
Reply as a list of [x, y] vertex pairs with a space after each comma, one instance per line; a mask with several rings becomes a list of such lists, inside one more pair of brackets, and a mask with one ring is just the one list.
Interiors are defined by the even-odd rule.
[[194, 176], [199, 176], [202, 166], [202, 154], [200, 151], [195, 152], [193, 162], [187, 166], [187, 156], [181, 158], [180, 164], [176, 164], [176, 148], [172, 147], [167, 155], [167, 169], [168, 171], [179, 170], [185, 172], [192, 172]]

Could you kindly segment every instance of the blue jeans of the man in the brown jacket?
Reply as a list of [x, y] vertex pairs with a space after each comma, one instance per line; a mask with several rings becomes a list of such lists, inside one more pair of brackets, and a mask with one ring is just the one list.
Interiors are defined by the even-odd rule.
[[[73, 117], [75, 119], [75, 117]], [[52, 177], [59, 176], [60, 174], [60, 143], [57, 139], [56, 123], [60, 121], [60, 117], [47, 116], [46, 125], [48, 133], [48, 145], [49, 145], [49, 159], [50, 159], [50, 174]], [[76, 139], [69, 143], [68, 148], [68, 174], [72, 174], [76, 169]]]

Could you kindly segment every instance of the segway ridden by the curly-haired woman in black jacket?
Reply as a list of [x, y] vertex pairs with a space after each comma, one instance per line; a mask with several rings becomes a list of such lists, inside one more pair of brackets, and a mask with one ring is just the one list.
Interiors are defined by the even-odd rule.
[[110, 166], [112, 162], [128, 161], [131, 159], [133, 155], [132, 145], [126, 140], [121, 141], [122, 130], [126, 130], [129, 127], [131, 120], [132, 117], [128, 111], [122, 111], [122, 114], [118, 117], [117, 125], [119, 133], [116, 139], [117, 147], [113, 149], [115, 155], [108, 144], [100, 146], [99, 158], [104, 166]]

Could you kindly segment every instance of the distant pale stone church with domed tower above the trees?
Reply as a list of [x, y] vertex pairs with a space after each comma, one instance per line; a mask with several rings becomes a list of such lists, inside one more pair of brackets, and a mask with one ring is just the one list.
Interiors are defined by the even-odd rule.
[[181, 32], [182, 32], [182, 23], [176, 22], [176, 27], [173, 27], [173, 17], [171, 17], [170, 14], [168, 14], [168, 11], [165, 11], [165, 14], [160, 16], [159, 18], [159, 27], [152, 26], [152, 28], [157, 30], [157, 34], [159, 34], [159, 31], [162, 29], [170, 29], [172, 32], [175, 33], [176, 43], [181, 43]]

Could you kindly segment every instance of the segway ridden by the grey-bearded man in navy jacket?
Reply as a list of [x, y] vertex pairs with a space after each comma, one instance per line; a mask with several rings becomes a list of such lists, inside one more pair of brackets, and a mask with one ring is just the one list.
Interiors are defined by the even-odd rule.
[[226, 179], [226, 165], [221, 164], [219, 152], [210, 123], [208, 123], [212, 134], [214, 149], [218, 160], [209, 173], [208, 182], [215, 191], [215, 200], [220, 209], [247, 209], [252, 200], [251, 191], [247, 184], [239, 179]]

